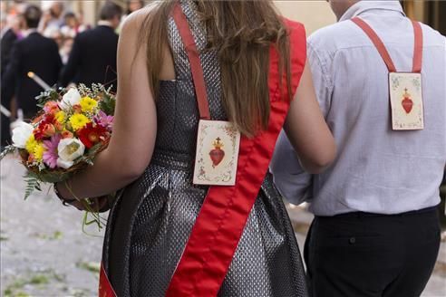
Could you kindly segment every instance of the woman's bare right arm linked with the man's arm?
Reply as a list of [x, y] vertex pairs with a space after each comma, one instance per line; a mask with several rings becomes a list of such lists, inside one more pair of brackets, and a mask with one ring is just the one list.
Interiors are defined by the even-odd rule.
[[335, 159], [336, 146], [315, 97], [308, 62], [291, 102], [285, 123], [286, 136], [296, 149], [299, 161], [309, 173], [320, 173]]

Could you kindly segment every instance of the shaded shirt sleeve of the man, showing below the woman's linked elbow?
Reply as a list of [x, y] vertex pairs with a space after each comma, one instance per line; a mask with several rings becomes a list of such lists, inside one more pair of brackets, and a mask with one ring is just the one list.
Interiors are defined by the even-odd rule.
[[312, 175], [301, 167], [284, 130], [277, 139], [269, 169], [280, 194], [288, 202], [299, 205], [311, 199]]

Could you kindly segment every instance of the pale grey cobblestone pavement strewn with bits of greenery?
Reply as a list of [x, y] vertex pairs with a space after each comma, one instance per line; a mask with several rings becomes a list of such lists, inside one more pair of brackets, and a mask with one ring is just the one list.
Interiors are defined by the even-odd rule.
[[[24, 201], [24, 168], [11, 157], [0, 166], [0, 296], [95, 296], [103, 230], [89, 226], [92, 235], [83, 234], [82, 213], [47, 188]], [[311, 216], [288, 208], [302, 249]], [[446, 296], [444, 271], [432, 275], [422, 296]]]

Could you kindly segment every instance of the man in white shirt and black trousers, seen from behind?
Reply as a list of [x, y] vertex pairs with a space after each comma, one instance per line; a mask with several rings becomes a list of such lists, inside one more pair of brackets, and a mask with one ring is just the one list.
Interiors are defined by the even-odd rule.
[[[330, 4], [339, 22], [309, 37], [308, 60], [338, 156], [324, 173], [310, 176], [282, 133], [271, 170], [281, 193], [292, 203], [310, 202], [315, 214], [305, 243], [315, 296], [419, 296], [440, 244], [445, 38], [425, 24], [417, 31], [397, 1]], [[399, 87], [389, 82], [394, 71], [413, 72], [409, 87], [422, 99], [402, 91], [391, 109], [389, 90]], [[418, 110], [419, 122], [397, 130], [395, 110], [402, 117]]]

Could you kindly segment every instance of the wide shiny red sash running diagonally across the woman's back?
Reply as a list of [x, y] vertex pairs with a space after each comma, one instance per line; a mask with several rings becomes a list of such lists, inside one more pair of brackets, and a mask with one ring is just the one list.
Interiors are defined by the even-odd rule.
[[[176, 22], [178, 18], [175, 14], [179, 12], [182, 14], [178, 9], [174, 10]], [[285, 22], [290, 31], [291, 90], [296, 91], [305, 67], [305, 29], [302, 24], [288, 20]], [[189, 28], [189, 24], [177, 25], [187, 25]], [[252, 139], [242, 137], [235, 186], [209, 187], [208, 195], [189, 235], [189, 241], [170, 281], [166, 292], [168, 297], [217, 296], [225, 279], [247, 217], [267, 174], [276, 139], [289, 108], [286, 75], [281, 76], [283, 82], [280, 84], [279, 56], [274, 46], [270, 50], [269, 63], [268, 86], [271, 104], [268, 129]], [[283, 86], [282, 91], [280, 85]], [[116, 295], [102, 269], [100, 297], [105, 296]]]

